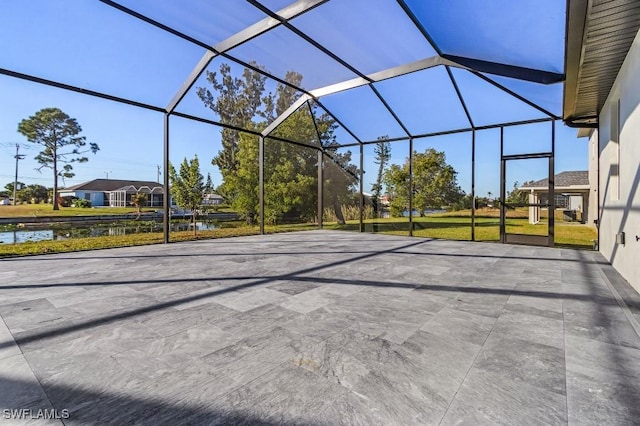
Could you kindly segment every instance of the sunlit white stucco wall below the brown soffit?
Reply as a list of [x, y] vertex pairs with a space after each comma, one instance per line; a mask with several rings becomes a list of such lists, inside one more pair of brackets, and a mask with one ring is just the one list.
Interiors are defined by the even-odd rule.
[[[640, 32], [600, 113], [600, 251], [640, 291]], [[616, 234], [625, 233], [625, 244]]]

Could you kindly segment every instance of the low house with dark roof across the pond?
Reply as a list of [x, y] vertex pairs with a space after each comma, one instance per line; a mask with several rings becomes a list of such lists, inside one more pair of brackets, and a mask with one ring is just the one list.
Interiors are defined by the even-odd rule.
[[94, 179], [58, 191], [60, 197], [78, 197], [91, 201], [95, 207], [129, 207], [131, 196], [139, 192], [147, 194], [147, 207], [162, 207], [164, 186], [157, 182]]

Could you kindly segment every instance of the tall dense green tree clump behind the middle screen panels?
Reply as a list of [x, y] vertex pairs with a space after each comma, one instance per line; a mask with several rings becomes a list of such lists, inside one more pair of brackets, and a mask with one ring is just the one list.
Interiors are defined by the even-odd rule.
[[[257, 64], [253, 64], [258, 67]], [[287, 72], [284, 80], [300, 86], [302, 75]], [[222, 64], [218, 71], [207, 71], [207, 87], [199, 87], [198, 96], [220, 122], [256, 132], [264, 130], [300, 96], [290, 85], [278, 83], [275, 91], [266, 90], [266, 77], [245, 68], [242, 76], [231, 75]], [[315, 120], [314, 120], [315, 118]], [[264, 144], [265, 220], [278, 223], [293, 219], [312, 221], [317, 216], [317, 148], [324, 150], [324, 205], [333, 208], [344, 223], [342, 206], [354, 202], [359, 181], [358, 168], [351, 164], [350, 151], [339, 152], [336, 122], [317, 105], [304, 105], [273, 132], [273, 136], [296, 140], [293, 145], [267, 138]], [[216, 192], [248, 223], [259, 213], [259, 139], [257, 136], [224, 128], [222, 149], [211, 163], [218, 167], [222, 183]], [[307, 147], [308, 146], [308, 147]]]

